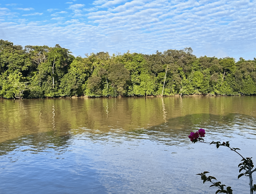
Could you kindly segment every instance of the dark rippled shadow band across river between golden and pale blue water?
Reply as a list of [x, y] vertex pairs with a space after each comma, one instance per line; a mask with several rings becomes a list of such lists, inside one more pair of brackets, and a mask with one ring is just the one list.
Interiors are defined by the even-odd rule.
[[[109, 136], [113, 139], [120, 139], [120, 137], [126, 140], [148, 139], [168, 145], [184, 145], [189, 143], [187, 142], [187, 136], [190, 132], [197, 131], [200, 128], [205, 129], [207, 134], [212, 136], [218, 134], [229, 137], [232, 136], [232, 132], [238, 133], [238, 130], [239, 132], [256, 135], [255, 123], [256, 119], [253, 117], [234, 113], [229, 113], [225, 116], [206, 113], [192, 114], [165, 119], [165, 122], [159, 125], [134, 129], [116, 129], [115, 127], [110, 127], [108, 130], [106, 128], [100, 130], [85, 127], [68, 129], [66, 126], [69, 126], [70, 123], [65, 123], [64, 131], [54, 130], [4, 141], [0, 143], [0, 155], [8, 154], [8, 152], [19, 149], [22, 146], [30, 146], [31, 151], [37, 150], [37, 152], [43, 152], [48, 147], [55, 151], [65, 151], [74, 135], [86, 135], [94, 142], [107, 142], [109, 141]], [[243, 133], [240, 133], [240, 135], [246, 136]]]

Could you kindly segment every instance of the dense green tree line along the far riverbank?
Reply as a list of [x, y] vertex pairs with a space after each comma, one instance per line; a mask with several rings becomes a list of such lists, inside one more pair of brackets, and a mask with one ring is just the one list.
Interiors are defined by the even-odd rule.
[[58, 44], [0, 40], [0, 98], [255, 95], [255, 69], [255, 58], [197, 58], [191, 48], [75, 58]]

